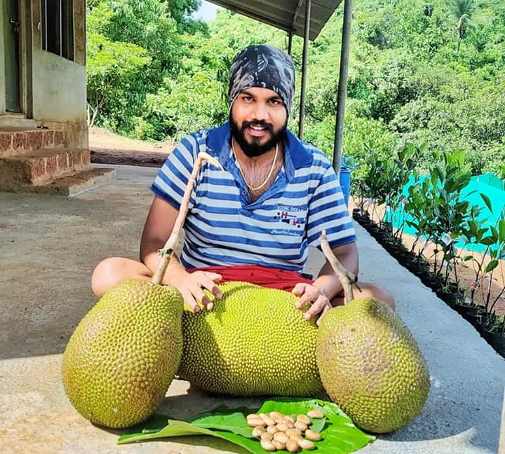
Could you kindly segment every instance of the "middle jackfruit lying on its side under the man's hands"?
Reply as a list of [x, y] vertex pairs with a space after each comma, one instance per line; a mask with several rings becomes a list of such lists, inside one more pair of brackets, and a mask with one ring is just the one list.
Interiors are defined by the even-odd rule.
[[234, 396], [308, 396], [323, 390], [314, 321], [298, 297], [248, 282], [218, 286], [213, 310], [184, 310], [179, 376], [203, 390]]

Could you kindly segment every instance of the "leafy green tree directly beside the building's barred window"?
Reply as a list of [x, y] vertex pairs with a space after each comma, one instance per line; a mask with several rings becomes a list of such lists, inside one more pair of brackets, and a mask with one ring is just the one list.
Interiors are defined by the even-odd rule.
[[181, 33], [206, 32], [189, 17], [198, 6], [198, 0], [88, 0], [90, 123], [133, 133], [147, 94], [180, 72]]

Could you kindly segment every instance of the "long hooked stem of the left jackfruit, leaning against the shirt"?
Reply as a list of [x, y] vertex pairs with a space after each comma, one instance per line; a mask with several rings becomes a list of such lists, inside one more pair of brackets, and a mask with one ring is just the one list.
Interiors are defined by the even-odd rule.
[[177, 218], [175, 219], [172, 233], [170, 233], [170, 237], [165, 243], [165, 246], [163, 246], [163, 249], [159, 250], [161, 260], [159, 261], [158, 268], [156, 268], [156, 272], [152, 277], [151, 282], [153, 284], [161, 284], [161, 282], [163, 282], [163, 277], [165, 277], [168, 263], [170, 263], [170, 259], [172, 258], [173, 254], [175, 254], [174, 249], [179, 242], [182, 226], [184, 226], [184, 221], [186, 220], [191, 193], [193, 193], [194, 186], [196, 186], [196, 177], [198, 177], [198, 172], [200, 171], [200, 168], [203, 165], [204, 161], [208, 161], [209, 163], [215, 165], [215, 167], [219, 167], [221, 170], [223, 170], [222, 165], [219, 163], [219, 161], [215, 160], [215, 158], [210, 156], [208, 153], [205, 151], [198, 153], [198, 158], [194, 163], [193, 171], [191, 172], [186, 188], [184, 189], [184, 195], [182, 196], [179, 214], [177, 214]]

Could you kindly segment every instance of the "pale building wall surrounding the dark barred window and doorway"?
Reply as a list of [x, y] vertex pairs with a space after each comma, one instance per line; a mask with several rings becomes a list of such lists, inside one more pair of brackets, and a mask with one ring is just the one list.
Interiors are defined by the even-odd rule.
[[[4, 13], [0, 2], [0, 19]], [[61, 130], [65, 146], [88, 148], [86, 123], [86, 0], [74, 0], [74, 62], [42, 49], [41, 1], [20, 0], [22, 106], [36, 125]], [[2, 27], [0, 20], [0, 27]], [[2, 38], [0, 29], [0, 38]], [[0, 119], [5, 112], [3, 39], [0, 39]], [[19, 116], [18, 116], [19, 120]]]

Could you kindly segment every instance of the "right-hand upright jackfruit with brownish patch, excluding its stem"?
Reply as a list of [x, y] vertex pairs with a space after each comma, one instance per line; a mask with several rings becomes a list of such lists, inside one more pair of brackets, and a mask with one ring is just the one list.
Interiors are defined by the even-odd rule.
[[422, 352], [396, 312], [377, 298], [326, 312], [316, 357], [332, 401], [369, 432], [400, 429], [426, 403], [430, 382]]

